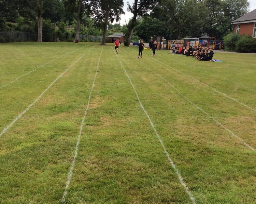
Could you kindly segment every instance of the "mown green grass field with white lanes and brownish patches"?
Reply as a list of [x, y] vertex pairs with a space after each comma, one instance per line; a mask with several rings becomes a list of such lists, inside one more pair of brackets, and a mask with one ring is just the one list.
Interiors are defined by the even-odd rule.
[[0, 45], [0, 203], [256, 203], [254, 54]]

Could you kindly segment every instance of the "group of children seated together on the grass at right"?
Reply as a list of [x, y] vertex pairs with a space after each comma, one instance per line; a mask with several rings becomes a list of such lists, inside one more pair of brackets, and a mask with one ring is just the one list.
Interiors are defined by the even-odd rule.
[[183, 54], [188, 56], [195, 57], [197, 60], [200, 61], [212, 61], [213, 57], [213, 50], [210, 48], [210, 52], [207, 50], [207, 47], [199, 47], [197, 46], [196, 48], [194, 46], [187, 46], [185, 47], [173, 47], [170, 52], [167, 52], [168, 54]]

